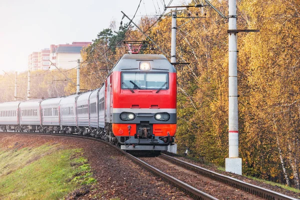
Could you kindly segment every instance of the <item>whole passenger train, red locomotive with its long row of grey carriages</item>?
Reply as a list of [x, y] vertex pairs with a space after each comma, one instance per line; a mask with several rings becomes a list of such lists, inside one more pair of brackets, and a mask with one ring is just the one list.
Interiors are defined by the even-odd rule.
[[176, 132], [176, 70], [164, 55], [124, 54], [100, 88], [0, 103], [0, 129], [93, 136], [126, 151], [167, 150]]

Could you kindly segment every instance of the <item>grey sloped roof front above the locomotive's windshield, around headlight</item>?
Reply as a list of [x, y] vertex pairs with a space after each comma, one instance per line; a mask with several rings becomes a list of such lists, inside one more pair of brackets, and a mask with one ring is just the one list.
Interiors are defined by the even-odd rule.
[[111, 71], [139, 70], [139, 61], [149, 61], [150, 71], [176, 72], [176, 69], [166, 57], [158, 54], [124, 54]]

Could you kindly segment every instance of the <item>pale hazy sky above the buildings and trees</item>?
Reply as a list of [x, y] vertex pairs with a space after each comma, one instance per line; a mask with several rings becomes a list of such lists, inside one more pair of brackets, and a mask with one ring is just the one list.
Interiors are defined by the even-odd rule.
[[[123, 11], [130, 18], [140, 0], [0, 0], [0, 72], [25, 71], [28, 55], [50, 44], [91, 41]], [[181, 5], [190, 0], [172, 0]], [[170, 0], [141, 0], [134, 18], [163, 11]], [[126, 18], [123, 22], [128, 22]]]

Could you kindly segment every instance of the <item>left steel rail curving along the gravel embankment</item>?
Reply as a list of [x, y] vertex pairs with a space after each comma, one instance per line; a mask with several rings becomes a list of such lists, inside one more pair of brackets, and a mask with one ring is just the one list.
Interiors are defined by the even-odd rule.
[[182, 189], [185, 191], [185, 193], [189, 194], [190, 197], [194, 198], [194, 199], [203, 199], [203, 200], [217, 200], [218, 198], [215, 198], [173, 176], [170, 176], [160, 170], [158, 170], [157, 168], [147, 164], [146, 162], [142, 161], [141, 159], [138, 159], [137, 157], [121, 150], [120, 148], [116, 147], [115, 145], [112, 145], [111, 143], [104, 141], [102, 139], [98, 139], [98, 138], [94, 138], [94, 137], [87, 137], [87, 136], [81, 136], [81, 135], [72, 135], [72, 134], [57, 134], [57, 133], [34, 133], [34, 132], [3, 132], [3, 133], [14, 133], [14, 134], [32, 134], [32, 135], [53, 135], [53, 136], [68, 136], [68, 137], [77, 137], [77, 138], [84, 138], [84, 139], [90, 139], [90, 140], [95, 140], [98, 142], [102, 142], [104, 144], [110, 144], [111, 147], [113, 147], [114, 149], [118, 150], [120, 153], [122, 153], [123, 155], [125, 155], [126, 157], [128, 157], [130, 160], [132, 160], [133, 162], [137, 163], [138, 165], [142, 166], [143, 168], [146, 168], [147, 170], [149, 170], [150, 172], [153, 172], [154, 174], [156, 174], [159, 177], [162, 177], [164, 180], [170, 182], [171, 184], [173, 184], [174, 186], [176, 186], [179, 189]]

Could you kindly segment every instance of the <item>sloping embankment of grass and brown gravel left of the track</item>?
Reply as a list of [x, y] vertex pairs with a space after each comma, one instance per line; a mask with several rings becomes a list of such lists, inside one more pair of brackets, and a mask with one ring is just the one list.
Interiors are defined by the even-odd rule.
[[[0, 170], [7, 168], [0, 174], [0, 196], [3, 197], [1, 192], [7, 189], [5, 199], [28, 199], [26, 195], [32, 199], [190, 199], [109, 144], [65, 136], [0, 133], [0, 148], [3, 152]], [[8, 159], [14, 159], [13, 163], [5, 164]], [[81, 162], [76, 163], [76, 160]], [[59, 170], [58, 166], [61, 166]], [[11, 170], [8, 167], [12, 167]], [[81, 173], [80, 169], [86, 167], [90, 171]], [[46, 172], [41, 174], [41, 171]], [[12, 174], [14, 179], [10, 178]], [[60, 179], [50, 179], [51, 176]], [[81, 181], [76, 182], [76, 179]], [[10, 182], [4, 184], [8, 180]], [[88, 184], [82, 183], [84, 181]], [[67, 188], [71, 183], [76, 184]]]

